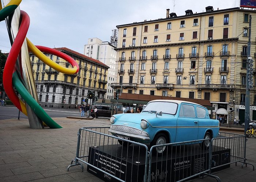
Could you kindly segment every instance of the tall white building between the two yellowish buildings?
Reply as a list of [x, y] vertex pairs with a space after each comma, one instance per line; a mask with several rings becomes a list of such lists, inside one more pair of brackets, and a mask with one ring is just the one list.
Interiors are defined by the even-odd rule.
[[101, 41], [98, 38], [88, 39], [88, 43], [84, 45], [84, 55], [87, 55], [91, 58], [97, 59], [100, 62], [109, 66], [107, 80], [108, 84], [106, 86], [106, 95], [105, 99], [107, 103], [110, 103], [110, 99], [113, 96], [113, 89], [110, 84], [114, 83], [115, 73], [116, 73], [116, 60], [117, 60], [117, 51], [114, 50], [112, 44], [108, 41]]

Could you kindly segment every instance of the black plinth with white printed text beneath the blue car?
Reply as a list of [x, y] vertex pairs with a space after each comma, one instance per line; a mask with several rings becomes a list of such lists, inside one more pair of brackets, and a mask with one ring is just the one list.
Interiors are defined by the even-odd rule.
[[[131, 145], [128, 150], [121, 145], [90, 147], [88, 162], [95, 167], [88, 165], [87, 171], [104, 181], [116, 182], [117, 180], [98, 169], [124, 181], [141, 182], [144, 177], [145, 159], [146, 150], [139, 146]], [[151, 181], [178, 181], [208, 169], [208, 161], [209, 151], [201, 150], [198, 144], [173, 147], [172, 150], [168, 149], [168, 155], [152, 156], [150, 179]], [[212, 147], [212, 167], [229, 163], [229, 161], [230, 149]], [[224, 167], [227, 168], [229, 165]], [[215, 171], [222, 170], [224, 167], [219, 167]]]

